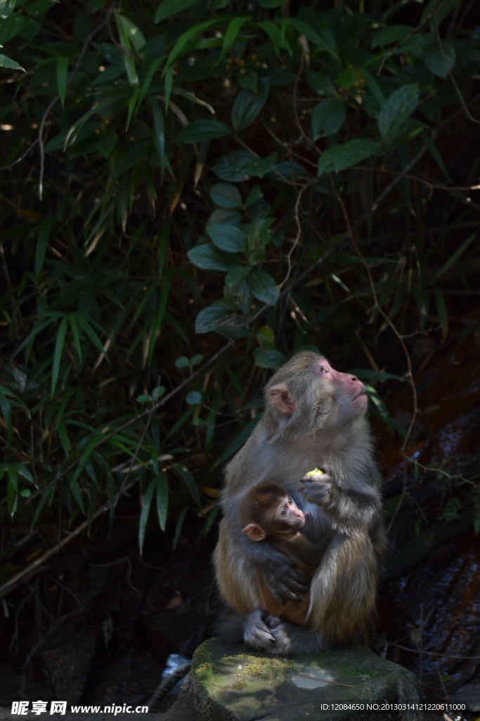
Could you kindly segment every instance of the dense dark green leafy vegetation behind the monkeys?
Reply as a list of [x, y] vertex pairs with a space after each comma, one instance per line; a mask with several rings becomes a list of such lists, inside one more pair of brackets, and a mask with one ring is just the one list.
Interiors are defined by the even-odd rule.
[[413, 372], [478, 322], [474, 2], [0, 12], [2, 523], [63, 544], [140, 481], [140, 547], [153, 509], [206, 533], [300, 348], [356, 369], [408, 469]]

